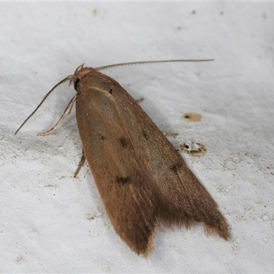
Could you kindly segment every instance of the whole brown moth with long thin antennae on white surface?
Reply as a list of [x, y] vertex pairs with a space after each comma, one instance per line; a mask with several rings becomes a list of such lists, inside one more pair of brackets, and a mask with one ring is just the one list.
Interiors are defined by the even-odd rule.
[[[205, 60], [126, 64], [182, 61]], [[82, 64], [74, 75], [55, 85], [36, 110], [66, 81], [74, 84], [77, 94], [55, 127], [38, 135], [53, 132], [76, 102], [83, 155], [75, 176], [87, 160], [110, 222], [138, 255], [153, 251], [155, 229], [162, 225], [189, 228], [201, 222], [207, 235], [216, 232], [228, 240], [228, 225], [216, 202], [179, 152], [127, 91], [99, 72], [123, 65], [92, 69]]]

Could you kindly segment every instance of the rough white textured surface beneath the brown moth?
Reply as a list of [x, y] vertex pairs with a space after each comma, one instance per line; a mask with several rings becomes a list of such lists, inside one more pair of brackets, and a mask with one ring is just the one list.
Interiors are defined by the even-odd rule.
[[[274, 269], [273, 3], [0, 3], [0, 272], [266, 273]], [[62, 86], [18, 135], [47, 91], [75, 68], [214, 58], [105, 71], [175, 147], [219, 203], [229, 242], [201, 225], [163, 229], [147, 260], [114, 232], [81, 157], [75, 112], [49, 129], [74, 94]], [[202, 115], [186, 123], [185, 112]]]

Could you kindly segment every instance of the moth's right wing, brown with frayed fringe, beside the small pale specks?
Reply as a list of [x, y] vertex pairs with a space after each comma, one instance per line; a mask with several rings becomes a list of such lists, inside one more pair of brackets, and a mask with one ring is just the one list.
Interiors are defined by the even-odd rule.
[[141, 159], [142, 169], [149, 174], [160, 223], [190, 227], [195, 221], [202, 222], [206, 234], [217, 232], [227, 240], [225, 218], [179, 152], [125, 90], [115, 91], [117, 109], [134, 151]]

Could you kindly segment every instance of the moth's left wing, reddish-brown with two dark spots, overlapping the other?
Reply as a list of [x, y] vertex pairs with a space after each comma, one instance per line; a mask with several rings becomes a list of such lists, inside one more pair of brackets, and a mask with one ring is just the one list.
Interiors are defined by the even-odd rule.
[[133, 251], [147, 256], [153, 250], [157, 221], [148, 178], [113, 95], [103, 90], [114, 87], [100, 83], [95, 85], [99, 89], [92, 88], [82, 79], [77, 87], [76, 116], [84, 154], [115, 231]]

